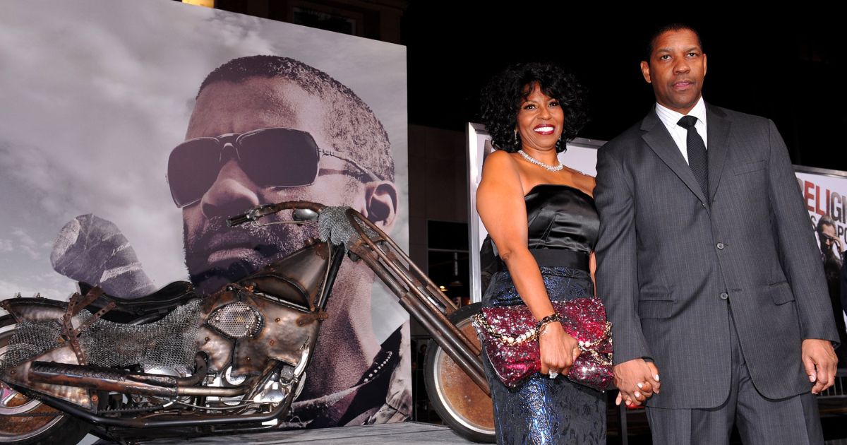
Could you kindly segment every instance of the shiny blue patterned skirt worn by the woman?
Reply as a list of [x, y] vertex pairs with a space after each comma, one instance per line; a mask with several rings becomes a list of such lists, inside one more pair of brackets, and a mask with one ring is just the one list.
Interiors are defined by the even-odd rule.
[[[587, 270], [571, 267], [540, 270], [552, 301], [594, 297], [594, 285]], [[491, 277], [483, 304], [523, 304], [508, 271]], [[542, 374], [535, 374], [522, 386], [510, 389], [497, 378], [488, 359], [483, 361], [494, 401], [497, 443], [606, 443], [605, 393], [573, 383], [565, 376], [550, 379]]]

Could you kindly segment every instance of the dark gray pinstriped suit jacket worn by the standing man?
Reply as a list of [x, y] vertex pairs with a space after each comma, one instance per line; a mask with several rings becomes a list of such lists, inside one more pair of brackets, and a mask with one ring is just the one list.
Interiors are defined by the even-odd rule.
[[727, 399], [730, 312], [767, 398], [810, 391], [803, 339], [839, 338], [782, 137], [758, 116], [706, 112], [708, 197], [655, 111], [598, 153], [597, 291], [615, 363], [656, 362], [659, 408]]

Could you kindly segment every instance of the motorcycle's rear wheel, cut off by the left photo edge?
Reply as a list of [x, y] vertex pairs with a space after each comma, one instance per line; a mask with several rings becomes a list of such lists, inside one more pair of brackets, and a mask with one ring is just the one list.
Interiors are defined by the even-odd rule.
[[[11, 315], [0, 317], [0, 360], [6, 353], [8, 339], [14, 332]], [[2, 384], [0, 384], [2, 385]], [[0, 444], [74, 445], [86, 437], [91, 426], [69, 414], [25, 417], [21, 413], [53, 413], [55, 409], [2, 385], [0, 394]]]

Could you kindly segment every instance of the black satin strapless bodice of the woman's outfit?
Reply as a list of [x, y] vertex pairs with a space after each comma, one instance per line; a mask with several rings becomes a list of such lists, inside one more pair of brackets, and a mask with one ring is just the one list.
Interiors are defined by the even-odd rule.
[[540, 184], [524, 200], [530, 249], [594, 251], [600, 217], [592, 197], [572, 186]]

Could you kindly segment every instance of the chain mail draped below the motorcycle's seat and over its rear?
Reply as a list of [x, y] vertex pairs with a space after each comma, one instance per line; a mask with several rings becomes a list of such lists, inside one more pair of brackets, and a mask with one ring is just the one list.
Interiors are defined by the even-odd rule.
[[[125, 325], [97, 320], [80, 334], [80, 346], [89, 364], [125, 368], [140, 364], [144, 370], [166, 368], [183, 374], [194, 370], [197, 331], [200, 329], [200, 300], [191, 300], [147, 325]], [[84, 321], [91, 312], [83, 309], [74, 317]], [[5, 370], [36, 355], [61, 346], [60, 320], [23, 321], [15, 326], [3, 358]]]

